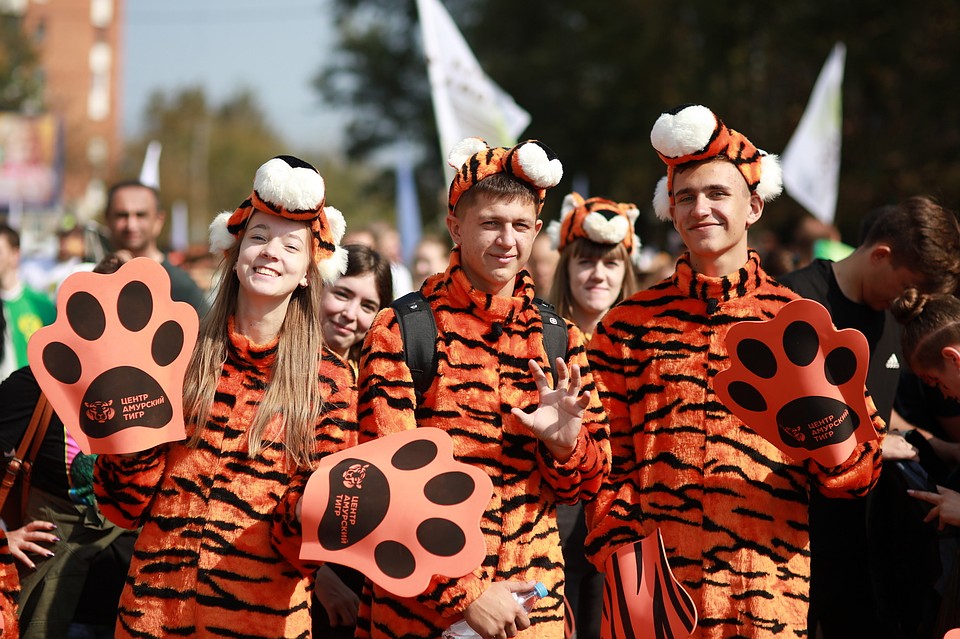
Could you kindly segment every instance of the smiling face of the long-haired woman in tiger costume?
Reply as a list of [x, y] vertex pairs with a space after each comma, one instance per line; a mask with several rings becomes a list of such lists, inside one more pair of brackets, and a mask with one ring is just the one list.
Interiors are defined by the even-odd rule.
[[312, 236], [303, 222], [256, 211], [247, 223], [235, 267], [240, 295], [250, 301], [289, 301], [307, 285]]

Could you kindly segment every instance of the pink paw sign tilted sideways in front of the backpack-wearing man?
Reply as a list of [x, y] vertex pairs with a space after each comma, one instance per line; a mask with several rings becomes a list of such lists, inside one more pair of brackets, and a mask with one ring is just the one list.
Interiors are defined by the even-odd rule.
[[490, 478], [453, 458], [450, 436], [414, 428], [324, 457], [303, 495], [300, 558], [356, 568], [400, 597], [486, 556]]

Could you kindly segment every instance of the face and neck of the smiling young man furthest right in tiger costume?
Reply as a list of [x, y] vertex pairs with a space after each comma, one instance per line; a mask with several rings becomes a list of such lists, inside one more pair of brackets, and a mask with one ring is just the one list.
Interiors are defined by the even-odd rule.
[[690, 250], [693, 268], [719, 277], [747, 260], [747, 229], [760, 219], [763, 201], [726, 160], [679, 170], [673, 178], [673, 225]]

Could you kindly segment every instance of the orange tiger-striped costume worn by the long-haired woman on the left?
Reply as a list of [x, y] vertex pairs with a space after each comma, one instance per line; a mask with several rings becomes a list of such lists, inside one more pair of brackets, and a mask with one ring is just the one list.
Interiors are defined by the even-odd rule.
[[[117, 637], [310, 636], [316, 566], [299, 560], [294, 515], [309, 471], [287, 467], [277, 422], [264, 450], [252, 459], [247, 452], [246, 427], [275, 356], [276, 341], [258, 346], [231, 331], [196, 448], [176, 442], [136, 456], [97, 458], [100, 509], [119, 526], [143, 526], [120, 599]], [[325, 351], [318, 378], [325, 404], [317, 458], [354, 445], [357, 435], [356, 388], [347, 365]]]

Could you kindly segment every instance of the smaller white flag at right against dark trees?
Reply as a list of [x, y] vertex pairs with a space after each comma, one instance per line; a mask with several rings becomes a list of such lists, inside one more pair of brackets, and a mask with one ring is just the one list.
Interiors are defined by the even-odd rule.
[[827, 224], [833, 223], [839, 194], [846, 52], [843, 43], [834, 45], [800, 124], [780, 157], [787, 193]]

